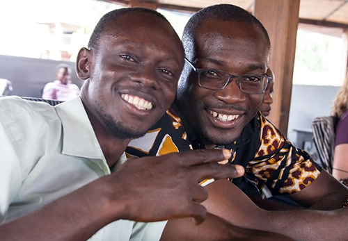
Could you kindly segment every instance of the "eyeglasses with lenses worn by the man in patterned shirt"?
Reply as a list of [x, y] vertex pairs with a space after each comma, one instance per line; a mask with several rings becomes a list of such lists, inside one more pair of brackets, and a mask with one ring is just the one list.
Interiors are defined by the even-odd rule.
[[239, 89], [244, 94], [262, 94], [272, 79], [266, 74], [232, 75], [216, 69], [197, 69], [187, 58], [185, 60], [198, 74], [198, 85], [209, 90], [223, 90], [233, 78], [237, 78]]

